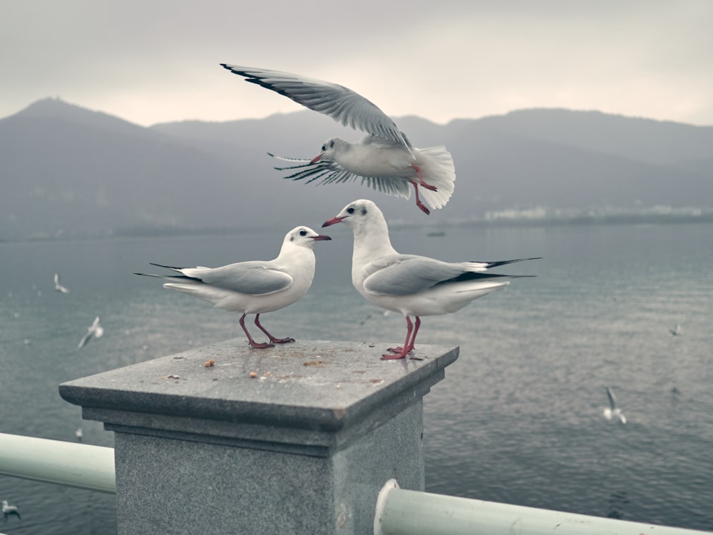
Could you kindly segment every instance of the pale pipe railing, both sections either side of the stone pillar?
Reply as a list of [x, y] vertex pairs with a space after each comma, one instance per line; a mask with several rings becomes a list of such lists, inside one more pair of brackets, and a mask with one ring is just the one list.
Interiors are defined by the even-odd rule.
[[[0, 433], [0, 474], [116, 494], [113, 448]], [[379, 492], [374, 535], [694, 535], [708, 531], [399, 489]]]

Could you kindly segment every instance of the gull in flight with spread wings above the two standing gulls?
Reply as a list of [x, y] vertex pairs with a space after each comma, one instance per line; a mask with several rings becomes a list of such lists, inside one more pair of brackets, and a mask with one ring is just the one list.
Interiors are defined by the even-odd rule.
[[421, 203], [419, 186], [431, 208], [443, 208], [451, 198], [456, 169], [446, 147], [412, 146], [406, 134], [399, 131], [389, 116], [358, 93], [337, 83], [298, 74], [225, 63], [220, 65], [244, 76], [245, 81], [271, 89], [302, 106], [324, 113], [344, 126], [367, 134], [357, 143], [330, 138], [324, 142], [319, 154], [309, 161], [277, 157], [297, 163], [276, 168], [294, 171], [285, 178], [308, 178], [307, 183], [321, 178], [322, 183], [328, 184], [354, 181], [361, 177], [362, 184], [406, 199], [411, 196], [409, 184], [413, 184], [416, 205], [426, 214], [430, 210]]

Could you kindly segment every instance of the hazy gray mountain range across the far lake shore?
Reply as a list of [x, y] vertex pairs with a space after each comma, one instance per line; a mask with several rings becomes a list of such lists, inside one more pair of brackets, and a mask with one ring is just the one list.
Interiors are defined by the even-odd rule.
[[0, 238], [318, 227], [361, 197], [421, 224], [538, 206], [713, 205], [713, 127], [558, 109], [396, 123], [416, 146], [445, 144], [456, 162], [456, 192], [429, 217], [358, 184], [283, 180], [268, 151], [311, 158], [329, 137], [361, 136], [319, 113], [144, 128], [47, 98], [0, 119]]

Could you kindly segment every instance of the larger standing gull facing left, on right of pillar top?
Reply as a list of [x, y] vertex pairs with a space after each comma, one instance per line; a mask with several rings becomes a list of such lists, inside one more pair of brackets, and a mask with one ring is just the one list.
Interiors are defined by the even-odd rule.
[[[344, 223], [354, 231], [352, 284], [364, 299], [406, 317], [406, 342], [389, 348], [394, 355], [382, 360], [403, 359], [414, 349], [421, 316], [456, 312], [474, 299], [510, 284], [517, 275], [484, 273], [491, 267], [536, 260], [519, 258], [500, 262], [448, 263], [417, 255], [401, 255], [391, 247], [389, 228], [381, 210], [371, 200], [355, 200], [322, 226]], [[416, 317], [416, 324], [411, 317]]]

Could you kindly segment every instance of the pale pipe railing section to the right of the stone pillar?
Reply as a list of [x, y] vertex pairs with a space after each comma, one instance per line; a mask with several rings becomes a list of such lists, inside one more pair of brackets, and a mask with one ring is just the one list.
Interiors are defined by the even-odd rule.
[[374, 535], [694, 535], [707, 531], [640, 524], [598, 516], [399, 489], [379, 493]]

